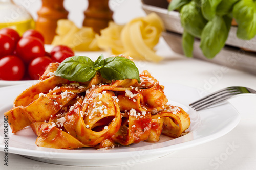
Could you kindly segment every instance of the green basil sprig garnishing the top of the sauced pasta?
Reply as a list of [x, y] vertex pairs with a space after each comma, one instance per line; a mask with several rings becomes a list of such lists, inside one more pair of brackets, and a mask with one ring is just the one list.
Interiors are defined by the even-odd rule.
[[93, 62], [86, 56], [73, 56], [59, 64], [55, 76], [76, 82], [90, 81], [99, 71], [107, 80], [137, 79], [140, 83], [139, 70], [133, 61], [125, 57], [109, 57], [100, 55]]

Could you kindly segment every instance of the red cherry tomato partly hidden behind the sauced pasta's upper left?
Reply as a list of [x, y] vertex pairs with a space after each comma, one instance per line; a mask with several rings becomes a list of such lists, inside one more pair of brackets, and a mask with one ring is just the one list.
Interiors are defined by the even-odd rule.
[[48, 56], [35, 58], [29, 64], [29, 76], [34, 80], [39, 79], [51, 62], [52, 59]]

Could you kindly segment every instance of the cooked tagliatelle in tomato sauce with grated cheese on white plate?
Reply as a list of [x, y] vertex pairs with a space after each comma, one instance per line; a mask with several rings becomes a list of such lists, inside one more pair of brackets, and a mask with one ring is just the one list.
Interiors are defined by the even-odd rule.
[[19, 94], [5, 113], [13, 133], [30, 126], [40, 147], [113, 148], [160, 135], [180, 137], [189, 115], [168, 105], [164, 87], [148, 71], [136, 79], [106, 80], [99, 72], [88, 82], [55, 76], [51, 63], [40, 81]]

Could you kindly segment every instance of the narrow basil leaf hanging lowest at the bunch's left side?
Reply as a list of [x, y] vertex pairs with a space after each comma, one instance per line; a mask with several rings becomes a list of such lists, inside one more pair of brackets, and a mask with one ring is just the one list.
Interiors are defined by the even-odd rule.
[[184, 30], [182, 34], [182, 47], [185, 56], [193, 57], [193, 45], [195, 37]]

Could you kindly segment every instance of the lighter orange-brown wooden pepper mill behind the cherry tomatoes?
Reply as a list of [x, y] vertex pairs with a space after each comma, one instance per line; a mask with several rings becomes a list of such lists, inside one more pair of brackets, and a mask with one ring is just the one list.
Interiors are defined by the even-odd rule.
[[38, 19], [35, 23], [35, 29], [45, 38], [45, 44], [51, 44], [57, 21], [67, 19], [69, 12], [63, 6], [64, 0], [42, 0], [42, 7], [37, 11]]

